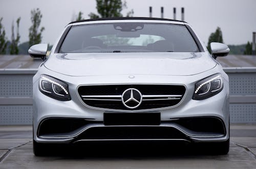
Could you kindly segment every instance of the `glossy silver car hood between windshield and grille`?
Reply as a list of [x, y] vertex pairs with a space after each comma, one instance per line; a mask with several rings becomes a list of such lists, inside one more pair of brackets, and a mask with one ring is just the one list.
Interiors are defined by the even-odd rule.
[[54, 53], [46, 68], [70, 76], [193, 75], [216, 66], [207, 52]]

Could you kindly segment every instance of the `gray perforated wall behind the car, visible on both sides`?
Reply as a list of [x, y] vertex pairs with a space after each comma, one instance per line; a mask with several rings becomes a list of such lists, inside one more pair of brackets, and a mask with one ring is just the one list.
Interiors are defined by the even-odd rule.
[[[256, 68], [225, 68], [230, 122], [256, 123]], [[32, 78], [37, 69], [0, 69], [0, 125], [32, 124]]]

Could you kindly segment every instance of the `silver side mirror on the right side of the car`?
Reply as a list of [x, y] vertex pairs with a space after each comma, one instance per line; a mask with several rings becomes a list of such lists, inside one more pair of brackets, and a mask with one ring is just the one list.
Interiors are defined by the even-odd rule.
[[212, 57], [214, 57], [214, 59], [216, 59], [217, 57], [226, 57], [226, 55], [228, 55], [230, 51], [227, 45], [217, 42], [211, 42], [210, 49]]

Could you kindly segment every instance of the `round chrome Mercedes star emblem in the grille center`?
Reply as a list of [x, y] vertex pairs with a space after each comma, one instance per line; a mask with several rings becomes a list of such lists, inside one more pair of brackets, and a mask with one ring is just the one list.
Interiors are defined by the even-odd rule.
[[127, 108], [136, 108], [142, 102], [142, 95], [140, 91], [134, 88], [127, 89], [122, 94], [122, 103]]

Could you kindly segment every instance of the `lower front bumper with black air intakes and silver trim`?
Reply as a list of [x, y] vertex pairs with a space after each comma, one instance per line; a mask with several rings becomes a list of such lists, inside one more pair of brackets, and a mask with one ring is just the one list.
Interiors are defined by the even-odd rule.
[[[56, 125], [55, 128], [52, 128]], [[203, 127], [203, 128], [201, 128]], [[104, 125], [84, 119], [48, 118], [36, 133], [41, 143], [78, 143], [112, 140], [181, 140], [222, 142], [227, 140], [224, 123], [216, 117], [181, 118], [160, 125]]]

